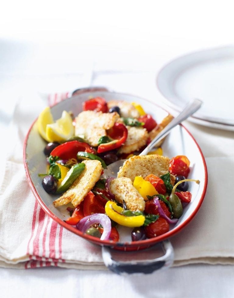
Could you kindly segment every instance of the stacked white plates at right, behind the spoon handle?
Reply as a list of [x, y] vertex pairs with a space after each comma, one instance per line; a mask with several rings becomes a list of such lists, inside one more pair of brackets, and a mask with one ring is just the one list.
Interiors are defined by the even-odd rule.
[[157, 84], [165, 103], [177, 111], [193, 98], [203, 101], [190, 121], [234, 130], [234, 46], [177, 58], [161, 69]]

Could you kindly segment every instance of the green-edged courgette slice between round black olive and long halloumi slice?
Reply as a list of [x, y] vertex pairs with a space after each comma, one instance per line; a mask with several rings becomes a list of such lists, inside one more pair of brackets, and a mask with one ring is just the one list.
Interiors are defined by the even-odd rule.
[[66, 190], [68, 190], [72, 186], [73, 182], [75, 182], [75, 180], [83, 172], [84, 168], [85, 168], [84, 163], [73, 165], [71, 169], [67, 172], [64, 179], [62, 180], [60, 186], [56, 191], [56, 194], [64, 193]]

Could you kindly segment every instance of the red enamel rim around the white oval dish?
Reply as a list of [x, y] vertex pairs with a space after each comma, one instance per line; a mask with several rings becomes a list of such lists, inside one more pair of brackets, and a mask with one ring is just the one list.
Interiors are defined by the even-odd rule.
[[[106, 91], [108, 92], [108, 91]], [[94, 92], [92, 92], [94, 93]], [[108, 93], [116, 93], [116, 92], [108, 92]], [[137, 96], [133, 95], [133, 94], [126, 94], [126, 93], [122, 93], [122, 95], [130, 95], [132, 97], [135, 97], [137, 98]], [[78, 95], [79, 96], [79, 95]], [[77, 96], [77, 97], [78, 97]], [[139, 97], [138, 97], [139, 98]], [[69, 98], [68, 98], [69, 99]], [[152, 102], [152, 101], [149, 101], [145, 98], [141, 98], [141, 99], [144, 99], [145, 101], [148, 101], [150, 102], [151, 104], [153, 103], [154, 105], [158, 106], [158, 108], [161, 108], [159, 105], [157, 105], [156, 103]], [[59, 103], [58, 103], [59, 104]], [[56, 105], [58, 105], [56, 104]], [[163, 108], [161, 108], [163, 109]], [[164, 111], [166, 111], [165, 109], [163, 109]], [[167, 111], [166, 111], [167, 112]], [[48, 207], [44, 204], [43, 200], [41, 199], [41, 197], [39, 196], [39, 194], [37, 193], [37, 190], [31, 180], [31, 177], [30, 177], [30, 174], [29, 174], [29, 169], [28, 169], [28, 165], [27, 165], [27, 160], [26, 160], [26, 147], [27, 147], [27, 140], [28, 140], [28, 137], [29, 137], [29, 134], [31, 132], [31, 129], [32, 127], [34, 126], [34, 123], [37, 121], [37, 119], [35, 119], [35, 121], [32, 123], [32, 125], [30, 126], [29, 130], [28, 130], [28, 133], [25, 137], [25, 140], [24, 140], [24, 147], [23, 147], [23, 162], [24, 162], [24, 168], [25, 168], [25, 172], [26, 172], [26, 176], [27, 176], [27, 180], [28, 180], [28, 183], [29, 183], [29, 186], [34, 194], [34, 197], [37, 199], [38, 203], [40, 204], [41, 208], [53, 219], [55, 220], [57, 223], [59, 223], [60, 225], [62, 225], [62, 227], [64, 227], [65, 229], [68, 229], [69, 231], [77, 234], [78, 236], [84, 238], [84, 239], [87, 239], [95, 244], [98, 244], [98, 245], [105, 245], [105, 246], [110, 246], [110, 247], [113, 247], [113, 248], [116, 248], [116, 249], [125, 249], [125, 248], [136, 248], [139, 249], [140, 247], [144, 247], [144, 248], [147, 248], [147, 247], [150, 247], [158, 242], [161, 242], [165, 239], [168, 239], [169, 237], [172, 237], [174, 236], [175, 234], [177, 234], [181, 229], [183, 229], [192, 219], [193, 217], [196, 215], [197, 211], [199, 210], [203, 200], [204, 200], [204, 197], [205, 197], [205, 193], [206, 193], [206, 189], [207, 189], [207, 166], [206, 166], [206, 162], [205, 162], [205, 158], [203, 156], [203, 153], [199, 147], [199, 145], [197, 144], [197, 141], [194, 139], [193, 135], [188, 131], [188, 129], [186, 129], [186, 127], [184, 127], [182, 124], [180, 124], [186, 131], [187, 133], [190, 135], [190, 137], [193, 139], [194, 143], [197, 145], [197, 148], [200, 152], [200, 155], [201, 155], [201, 158], [202, 158], [202, 161], [203, 161], [203, 165], [204, 165], [204, 172], [205, 172], [205, 179], [204, 179], [204, 189], [203, 189], [203, 192], [202, 192], [202, 195], [200, 197], [200, 200], [196, 206], [196, 208], [194, 209], [194, 211], [192, 212], [192, 214], [178, 227], [176, 228], [173, 228], [172, 230], [166, 232], [165, 234], [161, 235], [161, 236], [158, 236], [158, 237], [155, 237], [155, 238], [150, 238], [150, 239], [145, 239], [145, 240], [140, 240], [140, 241], [132, 241], [132, 242], [126, 242], [126, 243], [121, 243], [121, 242], [113, 242], [113, 241], [110, 241], [110, 240], [100, 240], [96, 237], [93, 237], [93, 236], [89, 236], [87, 234], [84, 234], [82, 232], [80, 232], [78, 229], [76, 229], [74, 226], [72, 225], [69, 225], [67, 224], [66, 222], [64, 222], [62, 219], [58, 218], [50, 209], [48, 209]]]

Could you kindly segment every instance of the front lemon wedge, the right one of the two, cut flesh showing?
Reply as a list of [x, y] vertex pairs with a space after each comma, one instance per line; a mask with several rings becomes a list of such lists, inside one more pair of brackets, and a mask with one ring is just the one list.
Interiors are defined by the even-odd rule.
[[72, 117], [66, 111], [62, 112], [62, 117], [55, 123], [47, 124], [46, 137], [50, 142], [61, 142], [73, 137], [74, 126]]

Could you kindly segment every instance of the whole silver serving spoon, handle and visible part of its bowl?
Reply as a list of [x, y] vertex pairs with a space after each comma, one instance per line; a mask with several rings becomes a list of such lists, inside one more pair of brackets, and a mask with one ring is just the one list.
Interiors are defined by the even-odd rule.
[[[150, 152], [154, 146], [161, 141], [168, 133], [174, 128], [176, 125], [187, 119], [189, 116], [191, 116], [193, 113], [195, 113], [200, 106], [202, 105], [202, 101], [199, 99], [191, 100], [179, 113], [179, 115], [174, 118], [152, 141], [151, 143], [139, 154], [139, 155], [147, 155], [148, 152]], [[124, 161], [126, 159], [120, 159], [112, 164], [108, 165], [107, 169], [104, 170], [104, 173], [102, 175], [103, 178], [108, 177], [117, 177], [117, 173], [119, 172], [119, 168], [122, 167]]]

